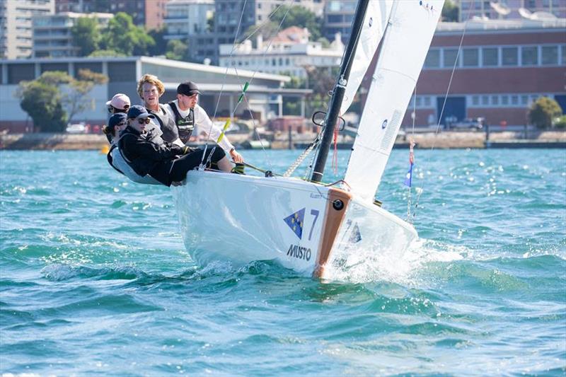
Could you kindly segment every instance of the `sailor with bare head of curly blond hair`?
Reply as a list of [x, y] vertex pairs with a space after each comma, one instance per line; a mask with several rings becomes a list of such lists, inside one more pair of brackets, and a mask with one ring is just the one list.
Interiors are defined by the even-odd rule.
[[161, 80], [152, 74], [144, 74], [137, 83], [137, 93], [144, 101], [144, 106], [149, 114], [154, 115], [152, 122], [163, 132], [163, 140], [169, 143], [184, 146], [179, 139], [179, 132], [175, 121], [171, 119], [164, 105], [159, 103], [159, 98], [165, 93], [165, 86]]

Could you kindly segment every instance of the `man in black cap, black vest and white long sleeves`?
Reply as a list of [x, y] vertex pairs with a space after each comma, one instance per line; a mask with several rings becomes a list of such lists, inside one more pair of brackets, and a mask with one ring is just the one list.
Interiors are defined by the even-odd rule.
[[[207, 112], [198, 105], [199, 95], [200, 91], [197, 84], [187, 81], [180, 83], [177, 87], [177, 99], [168, 103], [168, 108], [171, 109], [169, 115], [175, 120], [179, 137], [185, 144], [189, 141], [195, 127], [197, 134], [202, 132], [212, 141], [216, 141], [221, 134], [221, 130], [212, 123]], [[219, 146], [230, 154], [234, 162], [243, 162], [243, 157], [236, 152], [226, 135], [219, 141]]]

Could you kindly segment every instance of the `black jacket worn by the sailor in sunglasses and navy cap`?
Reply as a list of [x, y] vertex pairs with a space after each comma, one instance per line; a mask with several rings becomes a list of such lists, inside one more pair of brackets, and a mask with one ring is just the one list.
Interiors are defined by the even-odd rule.
[[120, 134], [118, 147], [137, 174], [149, 174], [163, 185], [171, 185], [169, 170], [175, 158], [184, 152], [184, 147], [164, 141], [156, 129], [141, 134], [131, 126]]

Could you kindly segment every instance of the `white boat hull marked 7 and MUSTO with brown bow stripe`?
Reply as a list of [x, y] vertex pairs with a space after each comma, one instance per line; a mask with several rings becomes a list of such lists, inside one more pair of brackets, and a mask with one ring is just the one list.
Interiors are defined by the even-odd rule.
[[294, 178], [195, 170], [173, 187], [173, 197], [185, 247], [199, 265], [277, 260], [331, 278], [327, 266], [347, 267], [354, 249], [403, 253], [417, 238], [415, 228], [381, 207]]

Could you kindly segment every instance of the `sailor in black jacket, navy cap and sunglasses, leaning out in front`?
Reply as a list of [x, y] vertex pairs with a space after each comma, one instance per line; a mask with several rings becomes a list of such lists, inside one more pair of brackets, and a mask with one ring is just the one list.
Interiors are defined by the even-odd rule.
[[170, 186], [184, 180], [187, 172], [203, 160], [215, 163], [222, 171], [231, 171], [232, 164], [221, 148], [208, 148], [203, 158], [202, 149], [168, 143], [154, 128], [148, 130], [146, 127], [154, 117], [143, 106], [132, 106], [127, 113], [127, 127], [118, 141], [122, 156], [137, 175], [150, 175]]

